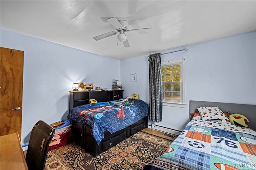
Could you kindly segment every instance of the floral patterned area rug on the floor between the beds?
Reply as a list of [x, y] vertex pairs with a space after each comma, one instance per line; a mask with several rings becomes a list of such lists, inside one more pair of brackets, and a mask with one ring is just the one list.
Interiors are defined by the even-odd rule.
[[48, 152], [45, 170], [141, 170], [171, 142], [138, 132], [96, 157], [72, 142]]

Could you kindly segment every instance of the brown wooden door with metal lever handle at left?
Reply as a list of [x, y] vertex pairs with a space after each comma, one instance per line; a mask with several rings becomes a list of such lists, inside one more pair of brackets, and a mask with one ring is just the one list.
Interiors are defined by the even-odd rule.
[[18, 132], [21, 138], [24, 51], [0, 51], [0, 136]]

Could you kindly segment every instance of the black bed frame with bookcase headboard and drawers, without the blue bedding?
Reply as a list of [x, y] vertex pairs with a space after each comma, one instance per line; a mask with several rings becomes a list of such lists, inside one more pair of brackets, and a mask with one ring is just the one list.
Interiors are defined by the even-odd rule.
[[[112, 101], [123, 97], [123, 90], [112, 90], [112, 91], [70, 91], [69, 100], [69, 111], [79, 105], [88, 104], [89, 99], [96, 99], [98, 102], [101, 101]], [[117, 97], [118, 95], [118, 97]], [[144, 117], [140, 121], [119, 130], [113, 134], [110, 132], [104, 132], [104, 138], [97, 144], [94, 137], [92, 136], [92, 129], [86, 127], [81, 123], [72, 121], [72, 134], [74, 141], [85, 150], [87, 150], [92, 156], [98, 156], [100, 153], [108, 150], [112, 146], [122, 142], [124, 139], [132, 136], [140, 130], [148, 127], [148, 116]]]

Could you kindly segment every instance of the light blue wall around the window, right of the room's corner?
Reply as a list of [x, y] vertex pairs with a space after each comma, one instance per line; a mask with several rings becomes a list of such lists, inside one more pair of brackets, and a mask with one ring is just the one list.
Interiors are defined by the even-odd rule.
[[[186, 108], [163, 107], [163, 127], [183, 130], [189, 121], [189, 101], [256, 104], [256, 32], [176, 48], [188, 51], [161, 55], [162, 61], [185, 58]], [[137, 73], [137, 82], [130, 81]], [[149, 103], [148, 57], [121, 61], [124, 95], [139, 93]], [[255, 113], [256, 119], [256, 113]], [[152, 121], [149, 121], [151, 125]]]

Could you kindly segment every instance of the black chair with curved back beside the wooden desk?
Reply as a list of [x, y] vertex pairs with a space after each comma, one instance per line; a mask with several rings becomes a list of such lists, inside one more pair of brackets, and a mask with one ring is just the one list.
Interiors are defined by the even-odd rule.
[[29, 170], [44, 170], [48, 148], [55, 129], [44, 121], [38, 121], [34, 125], [26, 154], [26, 162]]

